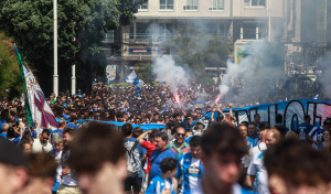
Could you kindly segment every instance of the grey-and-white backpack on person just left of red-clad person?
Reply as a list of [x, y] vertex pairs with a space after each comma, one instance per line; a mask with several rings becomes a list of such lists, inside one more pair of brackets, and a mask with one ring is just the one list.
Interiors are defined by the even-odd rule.
[[136, 177], [139, 175], [141, 169], [140, 154], [137, 149], [137, 141], [127, 141], [124, 143], [126, 148], [127, 170], [129, 177]]

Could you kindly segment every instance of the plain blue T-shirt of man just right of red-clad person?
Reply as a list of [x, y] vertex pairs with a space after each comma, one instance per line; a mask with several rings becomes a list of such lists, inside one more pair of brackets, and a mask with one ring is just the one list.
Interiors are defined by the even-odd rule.
[[151, 160], [150, 179], [161, 175], [162, 171], [160, 168], [160, 163], [166, 158], [177, 159], [177, 155], [171, 149], [167, 149], [161, 153], [159, 152], [159, 150], [154, 150], [152, 152], [152, 154], [150, 157], [150, 160]]

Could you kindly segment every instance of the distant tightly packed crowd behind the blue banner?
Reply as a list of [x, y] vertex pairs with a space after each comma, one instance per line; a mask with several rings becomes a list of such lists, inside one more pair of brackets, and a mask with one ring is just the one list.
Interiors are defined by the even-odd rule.
[[[319, 94], [319, 89], [300, 82], [297, 91], [292, 88], [268, 88], [263, 96], [254, 90], [243, 93], [247, 84], [235, 85], [218, 101], [221, 107], [234, 104], [234, 107], [254, 106], [258, 104], [277, 103], [290, 99], [311, 99]], [[268, 86], [268, 85], [267, 85]], [[257, 87], [261, 87], [257, 85]], [[288, 86], [289, 87], [289, 86]], [[295, 93], [293, 93], [295, 91]], [[189, 115], [193, 120], [201, 118], [204, 112], [213, 109], [214, 101], [220, 95], [218, 85], [201, 86], [193, 84], [190, 87], [178, 88], [178, 99], [166, 85], [145, 87], [136, 91], [134, 87], [109, 86], [103, 83], [95, 84], [90, 94], [77, 91], [77, 95], [60, 94], [57, 98], [51, 96], [50, 105], [56, 118], [68, 119], [70, 116], [78, 120], [96, 119], [110, 121], [126, 121], [131, 123], [164, 123], [173, 114]], [[179, 101], [178, 101], [179, 100]], [[154, 117], [153, 117], [154, 116]]]

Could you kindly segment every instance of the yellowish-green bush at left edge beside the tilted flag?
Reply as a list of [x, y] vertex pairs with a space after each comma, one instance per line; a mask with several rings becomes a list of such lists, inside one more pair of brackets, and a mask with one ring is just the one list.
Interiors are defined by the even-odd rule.
[[0, 96], [19, 96], [22, 89], [23, 84], [12, 40], [0, 33]]

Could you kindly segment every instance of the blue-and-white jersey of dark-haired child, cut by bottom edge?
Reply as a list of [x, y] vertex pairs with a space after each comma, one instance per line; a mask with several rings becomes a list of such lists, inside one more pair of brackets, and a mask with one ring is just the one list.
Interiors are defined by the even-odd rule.
[[164, 180], [161, 176], [156, 176], [151, 180], [145, 194], [162, 194], [163, 190], [171, 190], [171, 194], [175, 194], [171, 177]]

